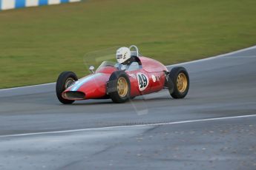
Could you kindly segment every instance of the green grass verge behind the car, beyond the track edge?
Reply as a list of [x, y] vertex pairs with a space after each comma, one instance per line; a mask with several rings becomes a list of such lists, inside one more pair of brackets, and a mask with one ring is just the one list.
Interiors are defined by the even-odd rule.
[[0, 88], [87, 72], [85, 54], [137, 44], [164, 64], [256, 44], [255, 0], [91, 0], [0, 12]]

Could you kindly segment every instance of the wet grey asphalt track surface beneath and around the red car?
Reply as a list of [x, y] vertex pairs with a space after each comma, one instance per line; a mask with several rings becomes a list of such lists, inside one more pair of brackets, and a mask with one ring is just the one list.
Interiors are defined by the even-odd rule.
[[0, 90], [0, 169], [256, 169], [256, 47], [180, 65], [181, 100], [65, 106], [54, 84]]

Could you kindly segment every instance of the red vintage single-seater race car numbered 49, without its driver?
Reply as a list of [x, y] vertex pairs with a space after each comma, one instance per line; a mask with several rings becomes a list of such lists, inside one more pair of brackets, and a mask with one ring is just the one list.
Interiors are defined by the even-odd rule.
[[62, 72], [56, 82], [59, 101], [69, 104], [80, 100], [111, 98], [114, 103], [124, 103], [136, 96], [162, 89], [168, 89], [173, 98], [185, 98], [189, 88], [185, 68], [174, 67], [169, 72], [159, 61], [140, 56], [136, 46], [131, 46], [129, 50], [133, 60], [126, 65], [103, 61], [95, 72], [91, 66], [91, 75], [81, 79], [73, 72]]

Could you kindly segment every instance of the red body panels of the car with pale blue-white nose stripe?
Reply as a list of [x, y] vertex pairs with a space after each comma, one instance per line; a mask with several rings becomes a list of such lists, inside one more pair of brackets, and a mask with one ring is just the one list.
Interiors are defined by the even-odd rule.
[[[165, 71], [168, 69], [158, 61], [151, 58], [140, 57], [142, 68], [134, 71], [125, 71], [131, 82], [131, 97], [145, 95], [151, 92], [158, 92], [165, 86]], [[62, 92], [62, 97], [68, 100], [85, 100], [108, 98], [107, 83], [112, 72], [117, 71], [115, 67], [102, 67], [95, 73], [85, 76], [76, 81], [75, 84]], [[142, 73], [148, 78], [148, 85], [141, 90], [137, 73]], [[68, 92], [79, 92], [85, 94], [85, 98], [68, 97]]]

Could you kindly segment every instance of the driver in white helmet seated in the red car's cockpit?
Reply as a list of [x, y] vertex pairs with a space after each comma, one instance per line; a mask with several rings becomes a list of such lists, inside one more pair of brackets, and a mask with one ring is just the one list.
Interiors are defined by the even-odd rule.
[[119, 64], [124, 65], [125, 69], [129, 69], [130, 66], [139, 67], [136, 58], [131, 56], [131, 50], [128, 47], [121, 47], [116, 50], [116, 60]]

